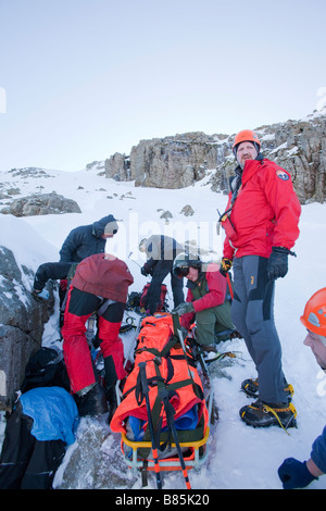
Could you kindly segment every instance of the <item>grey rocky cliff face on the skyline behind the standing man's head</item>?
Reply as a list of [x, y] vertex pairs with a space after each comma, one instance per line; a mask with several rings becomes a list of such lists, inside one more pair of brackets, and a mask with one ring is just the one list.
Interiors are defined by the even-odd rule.
[[[324, 202], [326, 195], [326, 109], [304, 120], [255, 128], [266, 158], [292, 175], [301, 203]], [[105, 161], [105, 176], [135, 180], [136, 186], [183, 188], [211, 174], [216, 191], [228, 191], [234, 173], [233, 135], [188, 133], [141, 140], [129, 155]]]

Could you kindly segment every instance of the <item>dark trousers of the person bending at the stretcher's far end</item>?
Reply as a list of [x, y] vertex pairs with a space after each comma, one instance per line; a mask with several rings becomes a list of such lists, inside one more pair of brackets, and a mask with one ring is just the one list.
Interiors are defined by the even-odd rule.
[[171, 274], [171, 287], [173, 294], [174, 307], [176, 308], [185, 301], [184, 299], [184, 279], [173, 274], [173, 260], [158, 261], [153, 269], [153, 276], [150, 288], [147, 294], [146, 308], [153, 314], [159, 306], [161, 285], [164, 278]]

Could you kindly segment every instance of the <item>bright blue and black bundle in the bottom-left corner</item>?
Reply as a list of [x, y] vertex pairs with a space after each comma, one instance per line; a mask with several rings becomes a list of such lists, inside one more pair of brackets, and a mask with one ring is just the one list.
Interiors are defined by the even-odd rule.
[[37, 387], [22, 394], [7, 423], [0, 488], [51, 489], [77, 425], [75, 400], [64, 388]]

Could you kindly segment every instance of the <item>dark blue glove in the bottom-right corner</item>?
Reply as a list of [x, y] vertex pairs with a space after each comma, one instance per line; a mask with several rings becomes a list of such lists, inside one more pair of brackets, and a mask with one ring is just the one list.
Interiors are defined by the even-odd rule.
[[312, 481], [318, 478], [308, 470], [305, 461], [301, 462], [294, 458], [284, 460], [277, 472], [284, 489], [305, 488]]

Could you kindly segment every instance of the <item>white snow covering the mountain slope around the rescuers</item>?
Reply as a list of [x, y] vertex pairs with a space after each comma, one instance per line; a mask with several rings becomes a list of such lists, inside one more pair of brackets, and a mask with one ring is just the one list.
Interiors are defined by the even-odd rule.
[[[121, 222], [117, 235], [108, 241], [106, 251], [127, 262], [135, 278], [130, 290], [141, 290], [147, 282], [139, 270], [143, 260], [138, 251], [138, 242], [151, 234], [174, 236], [181, 242], [191, 240], [203, 249], [205, 259], [222, 256], [223, 234], [216, 234], [216, 209], [223, 211], [227, 199], [226, 196], [210, 190], [206, 184], [209, 178], [188, 188], [164, 190], [135, 188], [134, 183], [105, 179], [97, 176], [93, 171], [47, 171], [47, 177], [36, 179], [1, 173], [1, 180], [8, 187], [20, 187], [24, 196], [40, 189], [42, 192], [55, 190], [66, 198], [75, 199], [82, 214], [22, 219], [0, 215], [1, 245], [13, 250], [18, 264], [36, 271], [43, 262], [58, 261], [59, 249], [73, 227], [89, 224], [109, 213]], [[195, 210], [193, 216], [185, 217], [180, 214], [186, 204]], [[166, 210], [173, 215], [168, 224], [160, 217]], [[239, 419], [239, 409], [250, 402], [240, 391], [240, 384], [247, 377], [255, 377], [254, 366], [242, 340], [220, 345], [221, 351], [240, 351], [241, 358], [223, 367], [227, 377], [213, 378], [220, 420], [210, 435], [206, 463], [200, 473], [195, 475], [190, 472], [192, 489], [281, 488], [277, 469], [283, 460], [287, 457], [308, 459], [312, 443], [326, 424], [326, 375], [317, 366], [310, 348], [303, 346], [305, 331], [299, 320], [306, 300], [317, 289], [325, 287], [326, 204], [304, 205], [300, 229], [300, 238], [294, 247], [298, 257], [289, 258], [289, 273], [286, 278], [277, 282], [275, 298], [284, 371], [294, 387], [293, 404], [298, 411], [298, 428], [289, 429], [289, 435], [276, 426], [254, 429]], [[30, 281], [30, 289], [32, 284]], [[170, 288], [168, 281], [167, 284]], [[170, 291], [170, 299], [171, 297]], [[46, 325], [45, 346], [57, 342], [57, 319], [52, 317]], [[3, 422], [0, 423], [2, 437], [3, 426]], [[108, 435], [102, 445], [103, 456], [105, 450], [109, 452], [113, 448], [112, 435], [110, 432]], [[116, 441], [113, 444], [117, 446], [118, 438], [114, 440]], [[75, 448], [76, 446], [72, 446], [68, 449], [57, 474], [57, 487], [61, 485], [64, 468]], [[116, 457], [121, 456], [120, 448], [115, 449]], [[80, 484], [83, 487], [83, 481]], [[155, 487], [154, 479], [150, 479], [150, 485]], [[91, 483], [88, 481], [84, 487], [91, 487]], [[139, 478], [133, 483], [133, 488], [140, 487]], [[164, 488], [184, 489], [183, 477], [179, 474], [165, 476]], [[326, 476], [311, 484], [310, 488], [325, 489]]]

